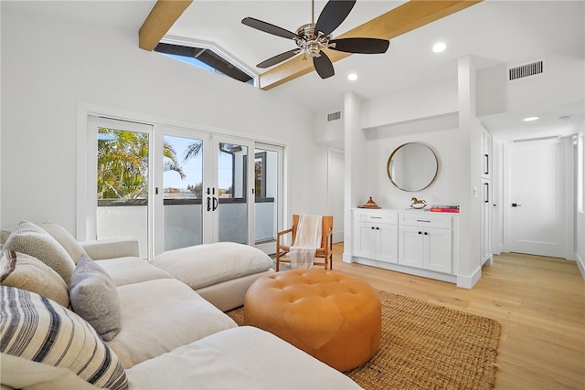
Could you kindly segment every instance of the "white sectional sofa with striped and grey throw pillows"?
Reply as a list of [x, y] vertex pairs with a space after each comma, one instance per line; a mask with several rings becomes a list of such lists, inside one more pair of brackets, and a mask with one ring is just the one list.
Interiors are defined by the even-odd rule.
[[[213, 248], [157, 262], [177, 272], [188, 263], [173, 258]], [[238, 327], [197, 289], [136, 253], [133, 240], [81, 246], [58, 226], [16, 227], [0, 259], [3, 388], [359, 388], [271, 333]], [[193, 283], [204, 271], [180, 276]], [[234, 279], [218, 278], [201, 289], [222, 297], [210, 287], [227, 282], [229, 289]]]

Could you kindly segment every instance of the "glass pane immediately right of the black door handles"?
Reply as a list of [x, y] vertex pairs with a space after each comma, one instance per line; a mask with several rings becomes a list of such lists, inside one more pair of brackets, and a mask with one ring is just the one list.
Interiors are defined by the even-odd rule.
[[218, 241], [249, 243], [249, 153], [242, 142], [217, 142], [217, 185], [212, 188]]

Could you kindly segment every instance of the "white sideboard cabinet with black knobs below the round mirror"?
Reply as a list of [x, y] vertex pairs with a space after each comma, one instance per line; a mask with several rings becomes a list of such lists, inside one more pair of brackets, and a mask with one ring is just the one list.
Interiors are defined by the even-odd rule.
[[352, 217], [353, 261], [457, 281], [458, 215], [356, 208]]

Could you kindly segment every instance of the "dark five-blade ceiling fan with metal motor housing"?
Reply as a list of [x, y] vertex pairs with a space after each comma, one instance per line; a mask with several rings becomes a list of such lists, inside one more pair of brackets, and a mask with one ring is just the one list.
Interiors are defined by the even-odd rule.
[[311, 4], [312, 22], [300, 26], [296, 33], [253, 17], [245, 17], [241, 21], [246, 26], [278, 37], [293, 39], [294, 43], [296, 43], [297, 48], [262, 61], [256, 65], [258, 68], [270, 68], [286, 59], [303, 53], [304, 56], [313, 58], [314, 69], [321, 79], [327, 79], [335, 75], [335, 70], [333, 69], [333, 63], [324, 53], [324, 48], [358, 54], [381, 54], [386, 53], [388, 50], [390, 44], [388, 39], [372, 37], [332, 39], [331, 33], [346, 20], [346, 17], [356, 5], [356, 0], [329, 0], [323, 11], [321, 11], [317, 23], [314, 23], [314, 0], [311, 1]]

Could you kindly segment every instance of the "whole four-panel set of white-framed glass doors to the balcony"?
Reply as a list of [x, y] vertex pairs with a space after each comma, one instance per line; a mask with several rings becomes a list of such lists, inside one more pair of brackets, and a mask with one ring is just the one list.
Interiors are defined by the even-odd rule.
[[88, 194], [96, 196], [87, 237], [136, 237], [143, 258], [218, 241], [274, 251], [282, 147], [162, 125], [88, 123]]

